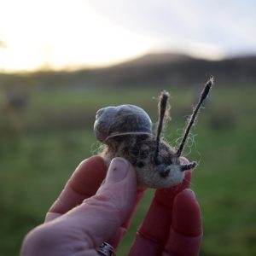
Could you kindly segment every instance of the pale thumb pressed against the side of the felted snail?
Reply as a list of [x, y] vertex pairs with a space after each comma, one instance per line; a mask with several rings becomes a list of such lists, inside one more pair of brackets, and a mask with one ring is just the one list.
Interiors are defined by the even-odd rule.
[[61, 218], [79, 232], [79, 237], [83, 238], [88, 249], [96, 248], [113, 236], [125, 222], [136, 196], [137, 177], [134, 168], [125, 159], [115, 158], [108, 168], [105, 183], [96, 195]]

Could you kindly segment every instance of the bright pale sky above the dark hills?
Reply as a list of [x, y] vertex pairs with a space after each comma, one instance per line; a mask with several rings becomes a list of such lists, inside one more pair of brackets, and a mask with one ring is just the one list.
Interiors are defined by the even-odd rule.
[[256, 55], [254, 0], [0, 0], [0, 72]]

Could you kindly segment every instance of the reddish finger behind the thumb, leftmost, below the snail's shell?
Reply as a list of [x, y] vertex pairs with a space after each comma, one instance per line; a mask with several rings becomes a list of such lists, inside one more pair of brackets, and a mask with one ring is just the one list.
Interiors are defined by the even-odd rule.
[[107, 166], [100, 156], [92, 156], [84, 160], [73, 172], [61, 195], [50, 207], [45, 221], [52, 220], [81, 204], [84, 199], [95, 195], [103, 179], [106, 177]]

